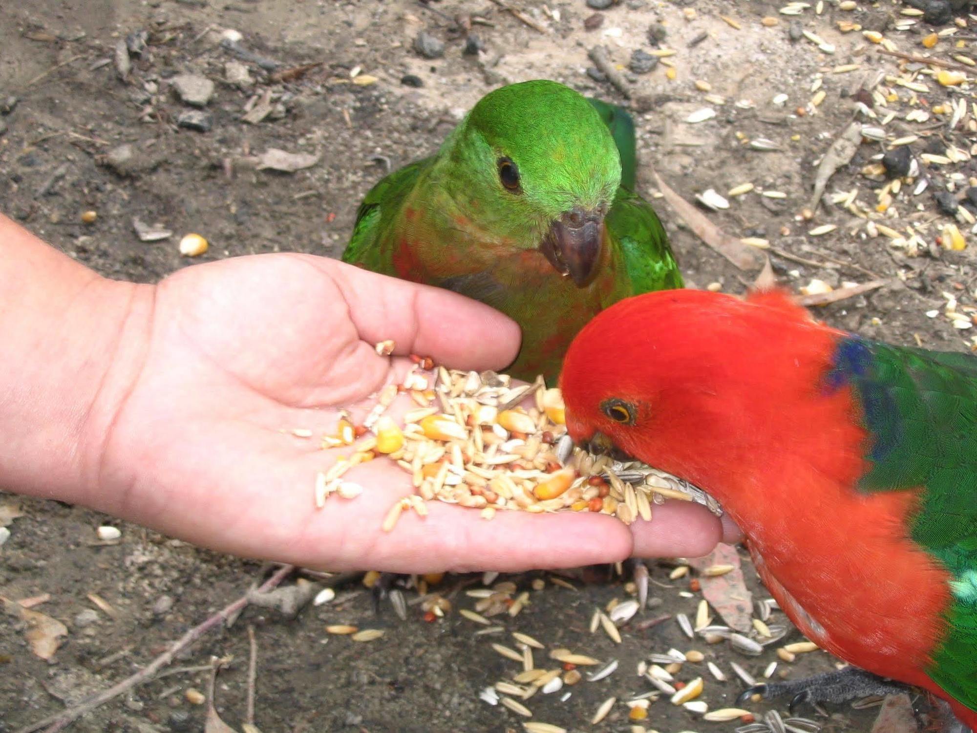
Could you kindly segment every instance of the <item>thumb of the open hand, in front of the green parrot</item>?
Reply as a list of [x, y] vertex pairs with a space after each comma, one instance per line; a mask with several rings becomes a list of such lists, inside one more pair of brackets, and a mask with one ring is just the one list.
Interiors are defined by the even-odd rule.
[[429, 356], [459, 369], [506, 367], [519, 352], [518, 324], [483, 303], [334, 260], [316, 261], [339, 286], [367, 343], [391, 339], [397, 354]]

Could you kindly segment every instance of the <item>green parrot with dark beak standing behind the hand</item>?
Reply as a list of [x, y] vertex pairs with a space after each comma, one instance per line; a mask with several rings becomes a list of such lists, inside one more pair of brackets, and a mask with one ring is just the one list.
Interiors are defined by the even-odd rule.
[[553, 384], [573, 336], [618, 300], [682, 287], [633, 193], [634, 123], [554, 81], [495, 89], [441, 149], [362, 200], [343, 261], [437, 285], [520, 324], [508, 371]]

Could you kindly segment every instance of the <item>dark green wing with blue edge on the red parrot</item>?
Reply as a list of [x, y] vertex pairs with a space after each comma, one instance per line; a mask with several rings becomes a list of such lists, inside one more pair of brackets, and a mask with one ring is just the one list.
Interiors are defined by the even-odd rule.
[[924, 487], [911, 537], [953, 577], [949, 631], [927, 673], [977, 710], [977, 357], [842, 340], [832, 379], [850, 381], [873, 444], [867, 492]]

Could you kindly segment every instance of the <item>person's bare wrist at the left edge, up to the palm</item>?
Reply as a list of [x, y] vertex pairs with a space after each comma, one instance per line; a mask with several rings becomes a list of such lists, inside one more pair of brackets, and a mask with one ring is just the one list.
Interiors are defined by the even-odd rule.
[[91, 504], [153, 286], [102, 278], [3, 217], [0, 254], [0, 487]]

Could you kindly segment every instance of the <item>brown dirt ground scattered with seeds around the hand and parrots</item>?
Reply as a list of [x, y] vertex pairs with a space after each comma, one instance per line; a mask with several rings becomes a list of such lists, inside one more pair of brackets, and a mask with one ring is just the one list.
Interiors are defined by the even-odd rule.
[[[546, 77], [628, 104], [611, 84], [594, 78], [599, 74], [588, 73], [588, 50], [603, 45], [613, 63], [627, 65], [634, 49], [673, 49], [676, 53], [649, 73], [623, 73], [639, 129], [639, 190], [655, 202], [686, 278], [696, 286], [718, 283], [713, 286], [740, 293], [757, 272], [738, 269], [693, 233], [658, 197], [649, 163], [689, 201], [710, 188], [725, 196], [729, 207], [707, 216], [733, 237], [767, 240], [774, 272], [794, 289], [817, 293], [830, 287], [836, 293], [845, 283], [884, 280], [880, 287], [821, 308], [828, 323], [896, 343], [969, 349], [974, 255], [970, 246], [947, 246], [953, 235], [944, 227], [956, 223], [972, 245], [973, 217], [962, 205], [956, 216], [945, 213], [934, 194], [944, 194], [944, 208], [952, 209], [947, 194], [963, 198], [977, 183], [969, 155], [973, 112], [952, 127], [952, 105], [967, 100], [971, 87], [943, 86], [927, 75], [927, 66], [882, 55], [884, 47], [860, 30], [881, 32], [899, 52], [933, 53], [963, 69], [969, 65], [953, 57], [973, 56], [974, 36], [966, 35], [972, 31], [954, 22], [931, 26], [903, 15], [910, 5], [890, 0], [859, 2], [855, 10], [826, 0], [820, 15], [815, 3], [810, 5], [790, 16], [779, 12], [780, 3], [761, 0], [628, 0], [600, 11], [603, 22], [588, 30], [585, 19], [595, 11], [583, 0], [547, 6], [523, 2], [519, 7], [530, 23], [494, 0], [0, 3], [0, 210], [72, 257], [120, 279], [154, 281], [191, 264], [177, 248], [190, 232], [211, 242], [198, 260], [279, 250], [338, 256], [361, 196], [386, 166], [436, 150], [464, 111], [490, 89]], [[761, 22], [766, 17], [776, 24]], [[469, 31], [466, 18], [474, 21]], [[975, 22], [962, 11], [957, 19]], [[899, 22], [906, 21], [915, 23], [901, 29]], [[839, 22], [857, 22], [861, 29], [842, 32]], [[800, 36], [796, 40], [791, 23]], [[658, 45], [650, 28], [658, 31]], [[797, 32], [802, 29], [833, 48], [819, 48], [816, 39]], [[422, 30], [445, 43], [442, 58], [422, 58], [414, 49]], [[957, 37], [943, 35], [927, 50], [921, 40], [934, 30], [957, 32], [960, 45]], [[140, 31], [146, 33], [145, 46], [132, 35]], [[240, 39], [229, 48], [234, 31]], [[479, 39], [480, 54], [463, 53], [467, 33]], [[123, 56], [131, 68], [121, 79], [115, 47], [127, 36], [132, 43]], [[274, 64], [263, 67], [263, 60]], [[234, 77], [241, 67], [229, 67], [231, 62], [243, 65], [246, 78]], [[310, 64], [316, 65], [275, 80], [276, 72]], [[889, 74], [875, 87], [877, 96], [859, 93], [859, 82], [876, 70]], [[209, 116], [208, 131], [178, 124], [193, 109], [168, 83], [180, 73], [215, 83], [202, 109]], [[925, 91], [913, 86], [918, 84]], [[823, 101], [818, 99], [822, 91]], [[857, 117], [859, 104], [874, 108], [876, 117]], [[242, 119], [262, 106], [268, 114], [260, 121]], [[716, 114], [687, 121], [701, 108]], [[893, 118], [887, 118], [887, 109]], [[853, 119], [882, 127], [885, 141], [864, 139], [831, 178], [813, 219], [805, 220], [801, 213], [810, 205], [817, 164]], [[898, 140], [907, 136], [914, 139]], [[777, 150], [756, 150], [770, 147], [758, 140], [773, 141]], [[884, 176], [872, 170], [879, 167], [881, 153], [903, 143], [929, 181], [925, 192], [913, 195], [920, 175], [898, 192], [891, 184], [883, 191]], [[119, 151], [126, 144], [131, 150]], [[319, 158], [291, 173], [256, 169], [253, 156], [269, 149]], [[728, 194], [744, 183], [754, 189]], [[846, 207], [843, 194], [855, 189], [856, 202]], [[87, 224], [82, 213], [89, 210], [97, 219]], [[150, 227], [158, 223], [172, 236], [143, 241], [134, 219]], [[819, 235], [828, 224], [836, 228]], [[0, 495], [0, 505], [12, 499]], [[118, 523], [57, 502], [28, 501], [23, 512], [10, 522], [11, 537], [0, 549], [0, 595], [50, 594], [34, 609], [62, 622], [67, 635], [53, 660], [45, 662], [31, 654], [24, 622], [4, 617], [0, 731], [21, 730], [126, 677], [268, 572], [125, 524], [118, 525], [119, 542], [97, 544], [95, 529]], [[747, 587], [755, 598], [766, 598], [740, 554]], [[573, 579], [575, 589], [546, 582], [532, 590], [533, 578], [550, 578], [545, 574], [499, 579], [517, 582], [520, 592], [529, 590], [531, 605], [515, 619], [502, 614], [503, 620], [492, 618], [493, 623], [529, 633], [548, 649], [562, 645], [601, 661], [619, 661], [617, 671], [599, 682], [532, 697], [526, 704], [533, 720], [574, 731], [627, 730], [622, 701], [654, 689], [635, 674], [636, 665], [670, 648], [701, 649], [706, 661], [725, 670], [726, 682], [716, 681], [705, 662], [676, 673], [686, 682], [705, 679], [701, 700], [710, 709], [731, 706], [743, 687], [731, 661], [759, 676], [777, 660], [774, 649], [783, 642], [749, 657], [725, 642], [691, 641], [672, 618], [640, 630], [642, 620], [659, 615], [695, 618], [700, 594], [690, 591], [688, 578], [669, 580], [677, 564], [650, 563], [653, 593], [661, 603], [622, 627], [621, 644], [601, 631], [591, 634], [588, 625], [596, 607], [628, 597], [629, 571], [620, 578], [591, 569], [585, 578]], [[464, 582], [475, 583], [470, 589], [480, 579], [449, 577], [439, 589], [450, 595]], [[240, 730], [246, 626], [253, 625], [260, 650], [255, 724], [265, 733], [521, 729], [526, 718], [479, 698], [485, 687], [520, 668], [489, 646], [491, 641], [511, 644], [508, 633], [474, 635], [479, 626], [455, 612], [426, 623], [417, 604], [408, 606], [406, 622], [387, 603], [374, 617], [359, 581], [337, 593], [336, 600], [309, 606], [293, 619], [274, 609], [248, 608], [230, 628], [204, 635], [173, 666], [195, 668], [212, 656], [233, 657], [218, 678], [216, 703]], [[104, 599], [110, 610], [100, 609], [89, 594]], [[407, 593], [408, 602], [415, 598]], [[463, 590], [451, 598], [455, 609], [475, 604]], [[770, 623], [786, 620], [775, 612]], [[387, 633], [380, 641], [357, 644], [326, 634], [326, 624]], [[753, 637], [758, 638], [755, 632]], [[785, 642], [798, 640], [791, 630]], [[543, 654], [537, 652], [537, 660]], [[834, 662], [822, 652], [799, 655], [793, 664], [781, 662], [775, 675], [786, 671], [796, 678]], [[187, 691], [206, 690], [206, 683], [207, 673], [200, 670], [151, 681], [70, 729], [202, 730], [206, 706], [191, 704]], [[573, 695], [563, 702], [567, 691]], [[591, 725], [591, 716], [611, 696], [618, 700], [613, 711]], [[925, 709], [924, 700], [915, 697], [913, 703]], [[766, 710], [751, 709], [758, 715]], [[779, 710], [786, 714], [786, 706]], [[825, 730], [840, 731], [869, 730], [877, 710], [802, 712]], [[677, 733], [732, 731], [741, 722], [703, 721], [701, 713], [662, 699], [641, 724]]]

